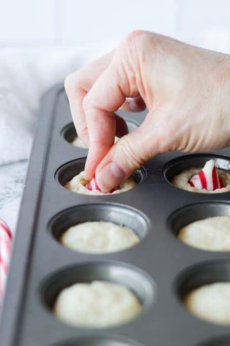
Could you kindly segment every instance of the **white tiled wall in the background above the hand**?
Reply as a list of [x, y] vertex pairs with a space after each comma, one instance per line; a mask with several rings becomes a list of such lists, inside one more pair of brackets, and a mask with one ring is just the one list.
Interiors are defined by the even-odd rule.
[[118, 40], [134, 29], [230, 52], [230, 1], [0, 0], [0, 47]]

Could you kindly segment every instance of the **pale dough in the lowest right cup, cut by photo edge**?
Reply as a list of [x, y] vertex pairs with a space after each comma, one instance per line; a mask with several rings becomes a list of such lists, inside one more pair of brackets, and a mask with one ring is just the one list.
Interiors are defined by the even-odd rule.
[[202, 320], [230, 325], [230, 282], [215, 282], [192, 290], [184, 303]]

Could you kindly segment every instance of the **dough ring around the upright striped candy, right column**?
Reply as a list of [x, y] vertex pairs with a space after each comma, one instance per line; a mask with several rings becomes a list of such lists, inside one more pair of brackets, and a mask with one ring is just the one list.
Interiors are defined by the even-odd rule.
[[191, 177], [193, 177], [195, 174], [200, 172], [202, 170], [202, 167], [191, 167], [182, 170], [177, 176], [173, 177], [172, 184], [179, 187], [182, 190], [192, 191], [192, 192], [198, 192], [198, 193], [222, 193], [230, 191], [230, 171], [224, 170], [220, 168], [216, 168], [217, 174], [223, 179], [223, 182], [225, 184], [225, 187], [222, 187], [221, 189], [216, 190], [199, 190], [195, 187], [191, 186], [189, 184], [189, 180]]

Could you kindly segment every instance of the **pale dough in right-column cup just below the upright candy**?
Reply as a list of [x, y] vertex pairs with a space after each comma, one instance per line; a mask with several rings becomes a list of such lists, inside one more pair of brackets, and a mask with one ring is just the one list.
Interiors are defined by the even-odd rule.
[[230, 216], [215, 216], [189, 223], [178, 238], [187, 245], [209, 251], [230, 250]]

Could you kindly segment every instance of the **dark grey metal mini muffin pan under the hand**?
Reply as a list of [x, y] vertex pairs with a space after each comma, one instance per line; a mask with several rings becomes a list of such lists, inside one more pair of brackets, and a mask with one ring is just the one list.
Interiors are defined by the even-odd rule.
[[[118, 113], [133, 129], [146, 114]], [[132, 190], [82, 195], [63, 187], [84, 169], [87, 156], [87, 149], [68, 142], [74, 132], [63, 86], [57, 85], [41, 102], [6, 289], [1, 345], [230, 345], [229, 327], [196, 318], [182, 302], [195, 287], [230, 281], [230, 253], [192, 248], [176, 237], [189, 222], [230, 215], [230, 193], [193, 193], [171, 184], [182, 169], [203, 166], [211, 158], [218, 167], [230, 169], [229, 148], [162, 154], [135, 172], [138, 184]], [[140, 242], [105, 254], [75, 252], [59, 243], [66, 228], [98, 220], [132, 228]], [[60, 290], [93, 280], [126, 285], [142, 303], [142, 312], [104, 329], [77, 328], [56, 319], [52, 307]]]

